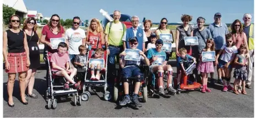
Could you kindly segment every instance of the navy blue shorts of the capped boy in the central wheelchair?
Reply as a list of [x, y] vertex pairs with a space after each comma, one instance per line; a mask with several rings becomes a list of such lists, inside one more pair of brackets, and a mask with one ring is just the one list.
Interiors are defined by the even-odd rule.
[[128, 66], [127, 68], [123, 68], [121, 74], [123, 78], [143, 76], [143, 73], [141, 73], [138, 66]]

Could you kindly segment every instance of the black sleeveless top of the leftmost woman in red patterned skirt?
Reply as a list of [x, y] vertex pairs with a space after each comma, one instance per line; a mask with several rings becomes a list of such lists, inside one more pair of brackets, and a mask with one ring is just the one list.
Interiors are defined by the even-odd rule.
[[24, 32], [20, 30], [19, 33], [14, 33], [6, 30], [8, 39], [8, 53], [23, 53], [24, 49]]

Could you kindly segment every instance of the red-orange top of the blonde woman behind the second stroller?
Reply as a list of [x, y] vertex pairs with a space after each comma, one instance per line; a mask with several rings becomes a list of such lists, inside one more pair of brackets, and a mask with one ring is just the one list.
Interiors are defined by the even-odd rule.
[[[99, 40], [100, 39], [100, 40]], [[96, 49], [97, 48], [97, 42], [99, 42], [98, 44], [98, 48], [102, 48], [101, 46], [101, 36], [100, 36], [100, 32], [97, 33], [97, 35], [94, 35], [94, 33], [89, 32], [89, 36], [88, 36], [88, 40], [91, 44], [91, 48], [92, 49]], [[99, 40], [99, 41], [98, 41]]]

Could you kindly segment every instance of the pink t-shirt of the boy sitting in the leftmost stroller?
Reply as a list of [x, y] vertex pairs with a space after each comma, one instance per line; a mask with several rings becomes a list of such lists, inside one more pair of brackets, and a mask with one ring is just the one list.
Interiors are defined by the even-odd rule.
[[[69, 56], [65, 53], [62, 56], [59, 56], [58, 52], [53, 53], [51, 56], [51, 63], [55, 63], [60, 68], [66, 69], [66, 63], [69, 61]], [[58, 71], [58, 69], [53, 69], [52, 71]]]

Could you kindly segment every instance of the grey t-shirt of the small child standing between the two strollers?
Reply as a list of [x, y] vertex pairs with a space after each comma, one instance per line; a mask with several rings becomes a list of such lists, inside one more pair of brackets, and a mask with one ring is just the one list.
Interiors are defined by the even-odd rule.
[[[87, 61], [87, 55], [81, 55], [81, 54], [78, 54], [77, 56], [75, 56], [75, 61], [74, 62], [77, 62], [77, 63], [81, 63], [81, 64], [86, 64], [86, 61]], [[80, 66], [80, 65], [76, 65], [77, 66], [77, 71], [78, 72], [85, 72], [85, 69], [86, 69], [86, 65], [84, 65], [83, 67]]]

